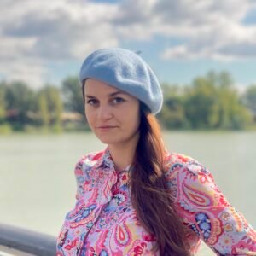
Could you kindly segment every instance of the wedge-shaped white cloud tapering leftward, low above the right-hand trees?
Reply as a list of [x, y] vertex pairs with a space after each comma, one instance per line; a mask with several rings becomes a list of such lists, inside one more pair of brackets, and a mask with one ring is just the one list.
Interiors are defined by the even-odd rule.
[[213, 59], [234, 61], [255, 59], [256, 27], [243, 27], [226, 22], [212, 26], [211, 30], [191, 37], [186, 44], [165, 49], [163, 59]]

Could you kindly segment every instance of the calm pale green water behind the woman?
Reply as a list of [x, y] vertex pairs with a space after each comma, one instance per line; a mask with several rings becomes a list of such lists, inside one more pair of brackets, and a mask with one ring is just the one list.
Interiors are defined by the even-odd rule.
[[[256, 132], [168, 132], [170, 151], [208, 167], [218, 188], [256, 227]], [[0, 223], [57, 236], [74, 205], [73, 167], [105, 148], [92, 134], [0, 137]], [[212, 255], [203, 247], [199, 255]]]

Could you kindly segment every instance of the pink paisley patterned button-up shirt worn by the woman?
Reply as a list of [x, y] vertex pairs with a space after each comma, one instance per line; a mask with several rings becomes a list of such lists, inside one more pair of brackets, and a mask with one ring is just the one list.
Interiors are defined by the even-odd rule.
[[[256, 233], [218, 190], [212, 175], [183, 154], [166, 154], [167, 183], [192, 254], [200, 242], [218, 255], [256, 255]], [[131, 205], [129, 171], [116, 172], [108, 148], [86, 154], [75, 167], [76, 205], [67, 213], [57, 255], [160, 255]]]

